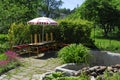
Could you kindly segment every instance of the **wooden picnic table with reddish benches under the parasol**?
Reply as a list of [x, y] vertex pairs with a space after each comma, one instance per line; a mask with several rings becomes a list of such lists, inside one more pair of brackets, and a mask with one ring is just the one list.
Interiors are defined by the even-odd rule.
[[13, 50], [19, 54], [22, 53], [37, 53], [47, 51], [54, 47], [55, 41], [43, 41], [40, 43], [30, 43], [13, 46]]

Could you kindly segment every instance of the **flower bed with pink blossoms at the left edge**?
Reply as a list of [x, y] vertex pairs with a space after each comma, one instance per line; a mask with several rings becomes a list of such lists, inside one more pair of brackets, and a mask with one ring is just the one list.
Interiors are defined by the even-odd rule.
[[7, 51], [0, 57], [0, 75], [20, 64], [20, 57], [13, 51]]

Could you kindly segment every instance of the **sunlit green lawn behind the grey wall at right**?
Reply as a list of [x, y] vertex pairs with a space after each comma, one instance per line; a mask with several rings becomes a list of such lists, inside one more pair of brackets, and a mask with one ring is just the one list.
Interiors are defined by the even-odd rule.
[[120, 53], [120, 41], [103, 37], [102, 29], [97, 28], [95, 32], [92, 30], [91, 37], [95, 40], [95, 45], [100, 50]]

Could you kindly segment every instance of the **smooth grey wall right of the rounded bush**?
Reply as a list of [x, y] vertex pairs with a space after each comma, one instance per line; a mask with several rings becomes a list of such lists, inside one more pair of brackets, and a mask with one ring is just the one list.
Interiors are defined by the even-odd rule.
[[103, 65], [110, 66], [120, 64], [120, 54], [111, 53], [108, 51], [90, 51], [92, 58], [90, 60], [91, 65]]

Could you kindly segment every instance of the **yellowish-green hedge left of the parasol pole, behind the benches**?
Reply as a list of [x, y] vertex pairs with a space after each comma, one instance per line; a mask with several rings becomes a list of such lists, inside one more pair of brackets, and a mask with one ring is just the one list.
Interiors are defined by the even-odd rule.
[[13, 23], [9, 29], [8, 39], [11, 46], [30, 42], [29, 25]]

